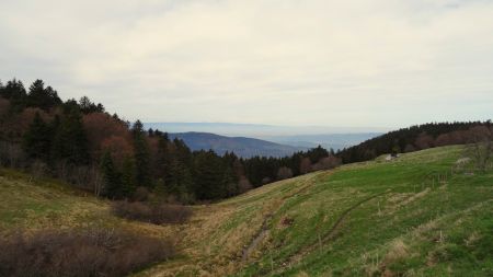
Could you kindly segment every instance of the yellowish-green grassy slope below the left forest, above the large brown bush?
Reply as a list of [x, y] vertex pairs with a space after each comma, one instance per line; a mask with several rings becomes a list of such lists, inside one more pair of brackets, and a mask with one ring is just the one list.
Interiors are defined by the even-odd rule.
[[0, 169], [0, 235], [41, 229], [125, 228], [165, 238], [179, 227], [130, 222], [111, 215], [110, 201], [61, 182]]

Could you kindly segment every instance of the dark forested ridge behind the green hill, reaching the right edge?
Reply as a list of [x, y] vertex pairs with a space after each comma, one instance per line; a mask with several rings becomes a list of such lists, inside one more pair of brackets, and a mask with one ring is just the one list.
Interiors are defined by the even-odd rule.
[[343, 163], [372, 160], [383, 153], [413, 152], [433, 147], [465, 145], [492, 136], [488, 122], [429, 123], [390, 131], [343, 149], [337, 157]]

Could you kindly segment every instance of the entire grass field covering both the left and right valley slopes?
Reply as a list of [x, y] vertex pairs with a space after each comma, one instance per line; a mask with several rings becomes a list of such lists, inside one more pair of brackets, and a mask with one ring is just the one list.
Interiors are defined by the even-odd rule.
[[452, 170], [461, 154], [445, 147], [316, 172], [163, 227], [2, 171], [0, 232], [101, 224], [173, 236], [181, 254], [137, 276], [493, 276], [493, 172]]

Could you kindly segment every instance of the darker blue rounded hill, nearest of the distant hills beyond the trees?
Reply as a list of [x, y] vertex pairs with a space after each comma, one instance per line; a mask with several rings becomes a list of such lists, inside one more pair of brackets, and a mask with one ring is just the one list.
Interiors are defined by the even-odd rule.
[[226, 137], [210, 132], [171, 132], [169, 137], [171, 139], [182, 139], [194, 151], [213, 149], [218, 154], [223, 154], [228, 151], [234, 152], [242, 158], [254, 155], [285, 157], [308, 149], [306, 147], [285, 146], [261, 139]]

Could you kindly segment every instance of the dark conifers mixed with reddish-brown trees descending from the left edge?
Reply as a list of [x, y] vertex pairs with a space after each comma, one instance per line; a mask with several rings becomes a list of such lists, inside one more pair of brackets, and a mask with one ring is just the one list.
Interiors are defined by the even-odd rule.
[[0, 162], [111, 199], [151, 192], [181, 203], [221, 199], [341, 163], [322, 147], [285, 158], [191, 151], [87, 96], [62, 101], [43, 80], [25, 89], [16, 79], [0, 82]]

